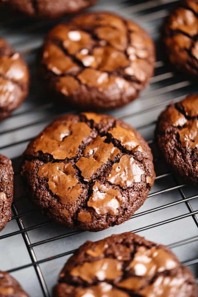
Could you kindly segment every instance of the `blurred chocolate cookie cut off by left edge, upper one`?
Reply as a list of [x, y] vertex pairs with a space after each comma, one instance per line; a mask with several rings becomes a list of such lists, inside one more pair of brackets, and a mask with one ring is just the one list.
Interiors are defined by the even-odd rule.
[[0, 121], [10, 116], [28, 94], [29, 71], [19, 53], [0, 38]]

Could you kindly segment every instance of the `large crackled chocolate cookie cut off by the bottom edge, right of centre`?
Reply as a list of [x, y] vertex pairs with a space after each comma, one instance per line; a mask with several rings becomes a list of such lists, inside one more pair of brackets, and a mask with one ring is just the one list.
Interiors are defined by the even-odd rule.
[[65, 264], [54, 297], [196, 297], [171, 250], [134, 233], [87, 241]]

